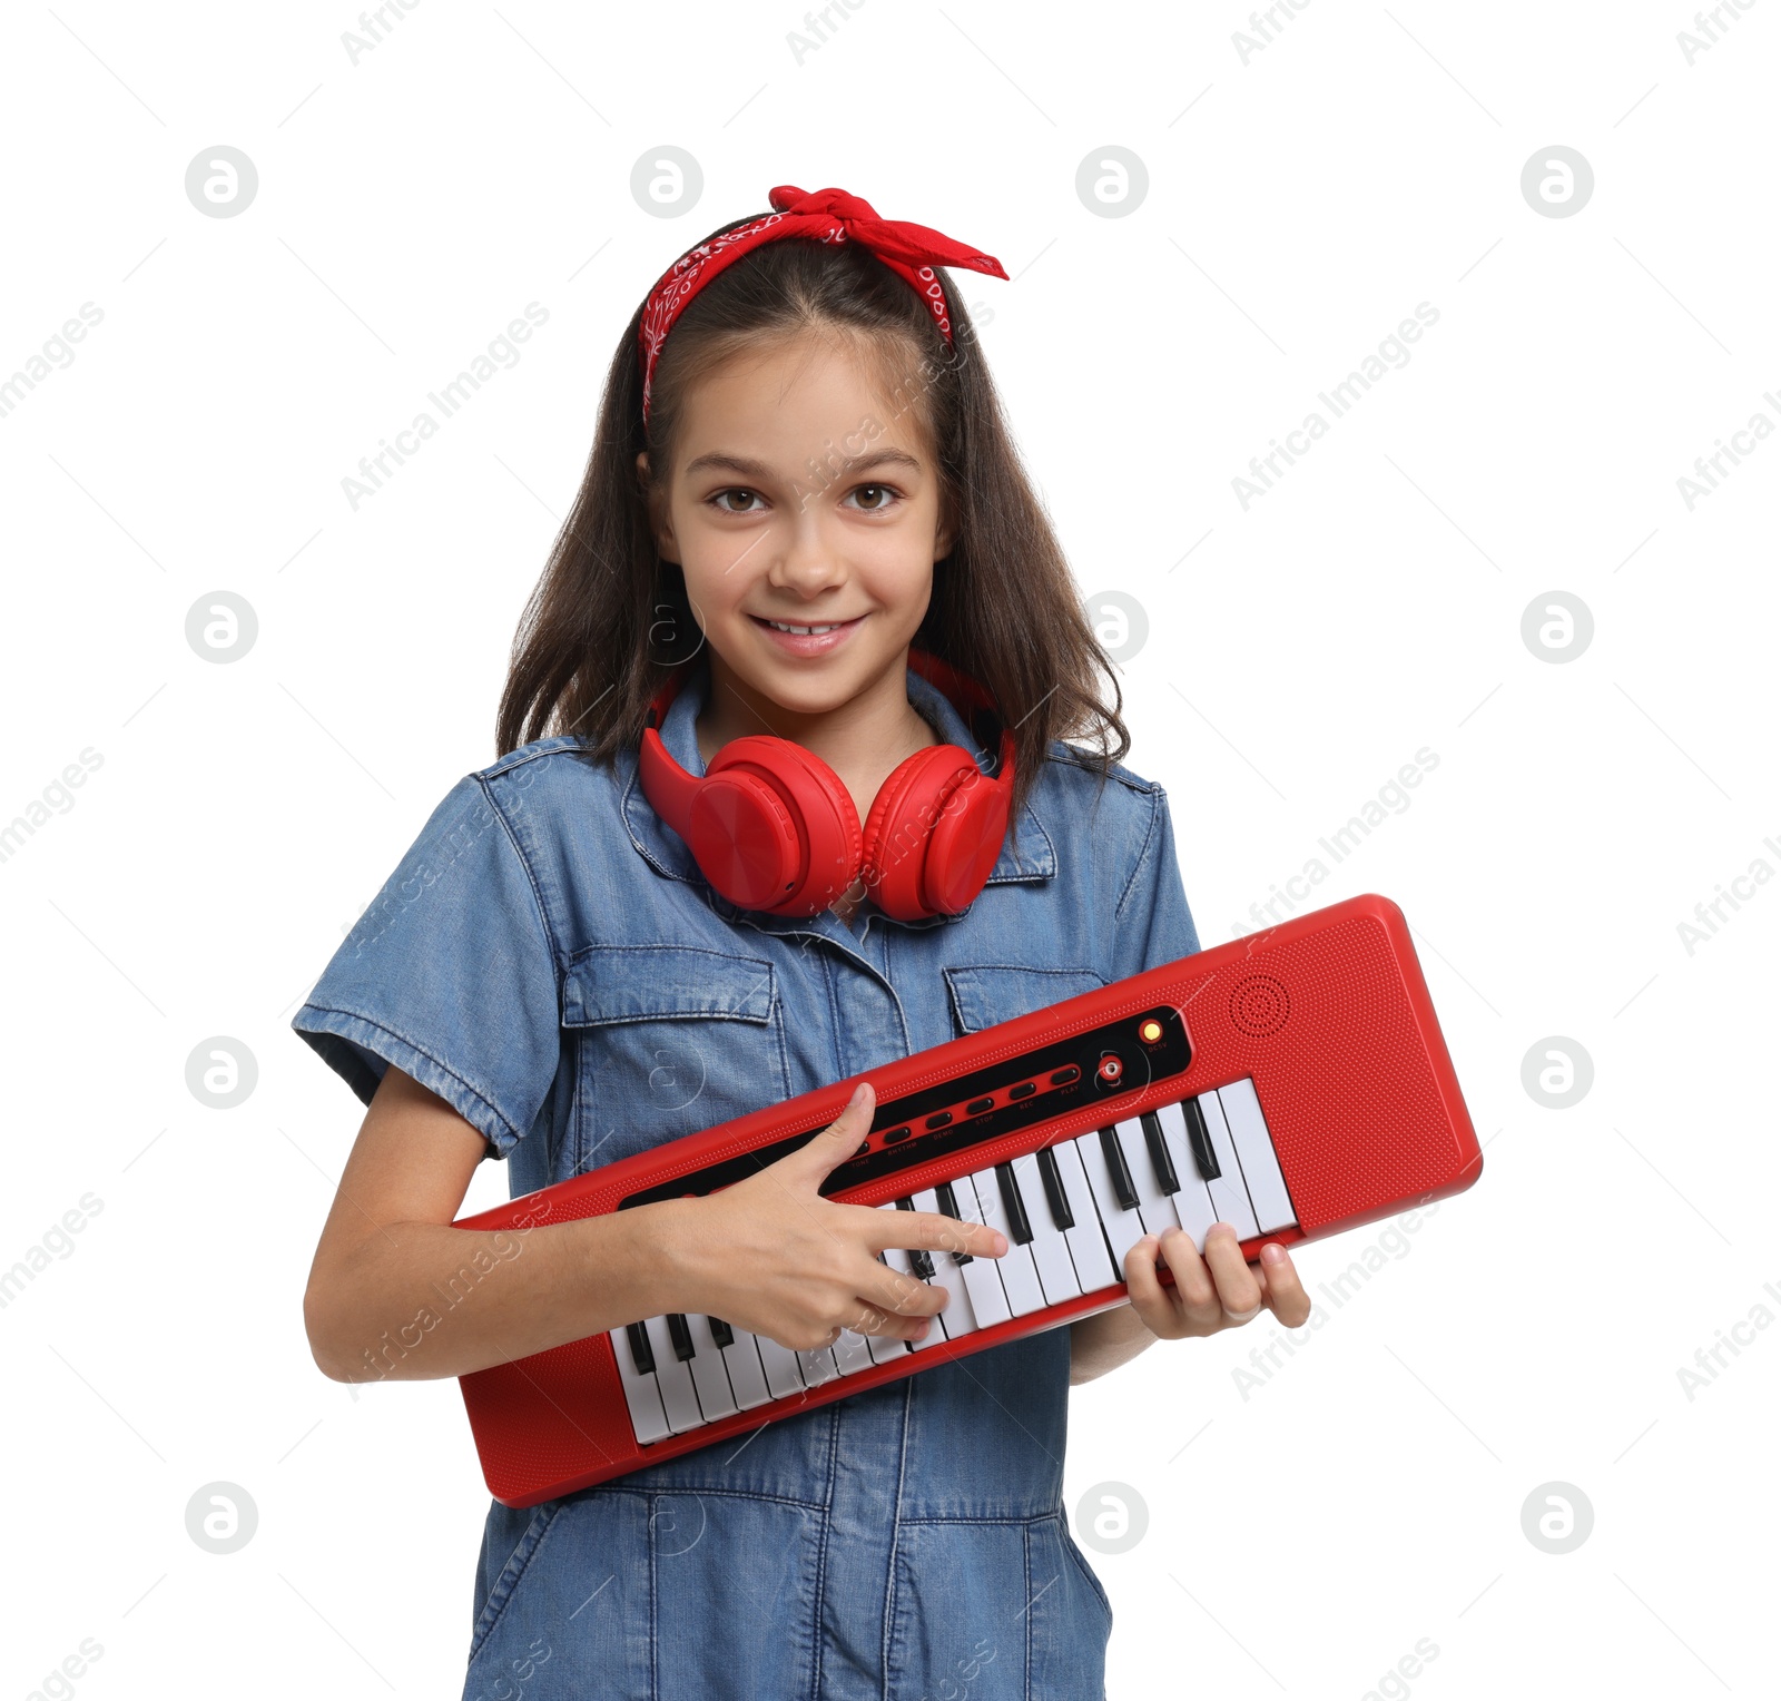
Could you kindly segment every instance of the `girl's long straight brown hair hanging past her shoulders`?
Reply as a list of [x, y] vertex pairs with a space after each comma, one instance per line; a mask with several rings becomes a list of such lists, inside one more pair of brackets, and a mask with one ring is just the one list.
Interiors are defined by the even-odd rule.
[[1118, 679], [949, 283], [946, 301], [951, 349], [926, 303], [857, 244], [766, 242], [680, 313], [655, 367], [647, 431], [638, 308], [607, 369], [581, 490], [520, 616], [497, 755], [572, 732], [588, 741], [593, 761], [609, 761], [641, 737], [650, 702], [698, 648], [700, 631], [680, 568], [655, 554], [638, 452], [648, 451], [652, 477], [661, 479], [687, 392], [703, 372], [744, 346], [816, 328], [866, 338], [887, 372], [903, 374], [898, 404], [917, 408], [928, 429], [955, 540], [935, 566], [915, 643], [996, 698], [1015, 739], [1015, 807], [1054, 739], [1083, 745], [1102, 768], [1131, 748]]

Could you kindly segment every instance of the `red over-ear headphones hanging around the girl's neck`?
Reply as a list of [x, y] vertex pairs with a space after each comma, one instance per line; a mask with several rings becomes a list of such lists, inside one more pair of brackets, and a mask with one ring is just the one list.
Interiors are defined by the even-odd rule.
[[[965, 720], [994, 712], [990, 695], [933, 655], [908, 664]], [[969, 750], [931, 745], [899, 762], [878, 787], [860, 828], [839, 775], [803, 745], [739, 737], [693, 778], [657, 730], [687, 670], [650, 704], [638, 768], [643, 796], [693, 851], [700, 873], [730, 903], [773, 916], [816, 916], [855, 880], [898, 921], [956, 916], [996, 867], [1013, 802], [1013, 736], [1001, 728], [996, 778]]]

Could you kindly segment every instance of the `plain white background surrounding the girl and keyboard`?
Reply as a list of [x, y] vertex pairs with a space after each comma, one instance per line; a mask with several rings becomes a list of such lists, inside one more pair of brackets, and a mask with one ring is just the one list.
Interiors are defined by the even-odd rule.
[[[9, 14], [0, 379], [103, 321], [0, 417], [0, 821], [102, 766], [0, 862], [0, 1266], [102, 1209], [0, 1311], [0, 1692], [85, 1637], [80, 1696], [458, 1692], [486, 1496], [454, 1384], [310, 1361], [360, 1108], [287, 1022], [495, 755], [627, 315], [780, 182], [1015, 274], [960, 281], [1085, 595], [1145, 611], [1129, 761], [1204, 942], [1439, 757], [1314, 901], [1403, 905], [1484, 1179], [1247, 1398], [1266, 1320], [1076, 1393], [1072, 1512], [1111, 1480], [1149, 1514], [1092, 1555], [1110, 1692], [1361, 1697], [1419, 1639], [1387, 1694], [1772, 1692], [1781, 1329], [1694, 1398], [1678, 1370], [1781, 1316], [1781, 891], [1678, 924], [1781, 867], [1781, 444], [1692, 509], [1678, 479], [1781, 424], [1781, 11], [1722, 9], [1690, 64], [1690, 11], [1644, 0], [1309, 0], [1259, 50], [1232, 4], [866, 0], [801, 57], [793, 4], [422, 0], [356, 64], [346, 7]], [[237, 217], [185, 196], [219, 144], [258, 169]], [[703, 169], [670, 219], [630, 194], [664, 144]], [[1521, 192], [1555, 144], [1594, 169], [1569, 217]], [[1149, 173], [1122, 217], [1076, 192], [1108, 146]], [[360, 456], [529, 301], [518, 365], [354, 511]], [[1418, 303], [1409, 363], [1245, 509]], [[232, 664], [185, 638], [216, 591], [258, 618]], [[1594, 620], [1569, 661], [1521, 636], [1551, 591]], [[235, 1110], [185, 1085], [214, 1035], [258, 1063]], [[1555, 1035], [1594, 1063], [1569, 1110], [1523, 1087]], [[502, 1192], [484, 1165], [472, 1204]], [[258, 1507], [232, 1555], [185, 1530], [219, 1480]], [[1553, 1480], [1594, 1509], [1565, 1555], [1521, 1525]]]

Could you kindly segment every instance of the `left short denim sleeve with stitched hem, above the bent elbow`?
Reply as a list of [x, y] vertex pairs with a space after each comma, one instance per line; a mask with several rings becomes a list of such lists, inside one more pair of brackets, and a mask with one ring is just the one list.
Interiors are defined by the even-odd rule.
[[365, 1104], [395, 1063], [506, 1158], [556, 1079], [559, 1012], [538, 891], [488, 785], [467, 775], [290, 1026]]

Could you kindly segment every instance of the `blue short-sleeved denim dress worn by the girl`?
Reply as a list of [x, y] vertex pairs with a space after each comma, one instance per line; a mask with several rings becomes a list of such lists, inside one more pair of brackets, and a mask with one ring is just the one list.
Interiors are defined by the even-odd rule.
[[[663, 727], [691, 773], [703, 689]], [[983, 750], [915, 673], [908, 698]], [[737, 910], [634, 755], [552, 737], [445, 794], [292, 1026], [362, 1101], [386, 1063], [436, 1092], [518, 1195], [1197, 949], [1161, 787], [1065, 745], [964, 916], [866, 903], [850, 928]], [[1113, 1614], [1061, 1505], [1069, 1370], [1053, 1329], [492, 1503], [465, 1701], [1102, 1696]]]

